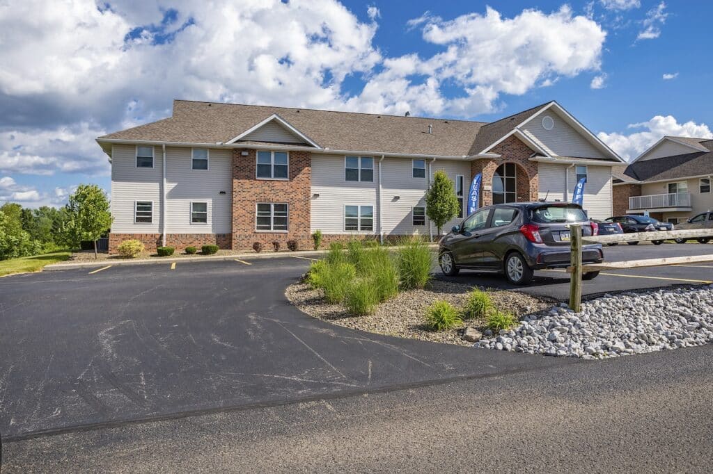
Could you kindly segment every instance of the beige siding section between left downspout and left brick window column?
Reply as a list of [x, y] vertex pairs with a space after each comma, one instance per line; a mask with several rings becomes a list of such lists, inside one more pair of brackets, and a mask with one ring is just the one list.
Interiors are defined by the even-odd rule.
[[[192, 169], [190, 148], [166, 147], [166, 233], [230, 233], [231, 199], [230, 150], [210, 149], [206, 170]], [[192, 201], [208, 204], [207, 223], [190, 223]]]

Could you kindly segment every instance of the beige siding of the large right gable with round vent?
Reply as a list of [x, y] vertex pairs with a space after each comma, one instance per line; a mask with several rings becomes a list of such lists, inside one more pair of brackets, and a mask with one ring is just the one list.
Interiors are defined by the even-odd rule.
[[[552, 130], [545, 130], [545, 127], [542, 126], [542, 120], [546, 116], [552, 117], [555, 122]], [[605, 158], [597, 147], [551, 109], [545, 110], [525, 124], [523, 132], [545, 152], [553, 156]]]

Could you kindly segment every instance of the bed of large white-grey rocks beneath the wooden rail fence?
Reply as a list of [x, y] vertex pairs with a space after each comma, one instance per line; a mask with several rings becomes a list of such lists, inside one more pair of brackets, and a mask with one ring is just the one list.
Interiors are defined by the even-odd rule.
[[575, 313], [561, 303], [475, 347], [602, 359], [713, 342], [713, 285], [604, 295]]

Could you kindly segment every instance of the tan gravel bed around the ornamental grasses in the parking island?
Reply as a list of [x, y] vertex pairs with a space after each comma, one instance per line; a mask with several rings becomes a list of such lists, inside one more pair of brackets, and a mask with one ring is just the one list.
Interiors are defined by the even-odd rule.
[[[446, 300], [455, 307], [463, 307], [472, 288], [462, 283], [431, 280], [424, 290], [399, 293], [391, 300], [379, 304], [373, 314], [366, 316], [352, 316], [344, 306], [328, 304], [324, 301], [322, 290], [313, 290], [303, 283], [290, 285], [285, 295], [302, 312], [336, 325], [383, 335], [472, 346], [473, 342], [463, 339], [463, 331], [466, 327], [481, 327], [483, 321], [467, 320], [461, 326], [441, 332], [424, 327], [424, 315], [431, 303]], [[540, 312], [552, 305], [551, 301], [515, 291], [493, 290], [489, 294], [498, 309], [514, 315]]]

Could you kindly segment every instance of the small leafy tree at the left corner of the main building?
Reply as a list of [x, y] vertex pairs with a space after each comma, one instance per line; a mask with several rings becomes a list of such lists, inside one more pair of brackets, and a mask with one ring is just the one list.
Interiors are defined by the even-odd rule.
[[96, 184], [80, 184], [69, 196], [66, 206], [65, 241], [78, 247], [81, 241], [94, 242], [94, 257], [97, 257], [96, 241], [108, 231], [113, 217], [104, 191]]

